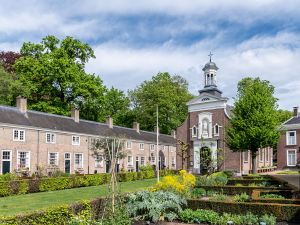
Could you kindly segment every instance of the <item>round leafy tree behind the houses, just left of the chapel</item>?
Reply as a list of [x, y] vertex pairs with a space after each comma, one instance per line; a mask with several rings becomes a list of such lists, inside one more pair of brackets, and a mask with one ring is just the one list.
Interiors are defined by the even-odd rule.
[[141, 123], [142, 129], [153, 131], [158, 105], [160, 132], [168, 134], [186, 119], [186, 103], [193, 96], [184, 78], [158, 73], [150, 81], [144, 81], [135, 90], [129, 91], [129, 97], [134, 117]]

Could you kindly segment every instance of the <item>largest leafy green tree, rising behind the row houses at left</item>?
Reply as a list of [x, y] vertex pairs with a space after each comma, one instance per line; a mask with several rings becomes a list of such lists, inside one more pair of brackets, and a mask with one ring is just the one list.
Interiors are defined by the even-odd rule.
[[47, 36], [38, 44], [24, 43], [20, 53], [14, 68], [18, 80], [29, 89], [23, 95], [31, 109], [68, 115], [75, 105], [82, 108], [81, 117], [103, 119], [98, 112], [106, 88], [99, 77], [84, 71], [95, 57], [88, 44], [72, 37], [60, 41]]

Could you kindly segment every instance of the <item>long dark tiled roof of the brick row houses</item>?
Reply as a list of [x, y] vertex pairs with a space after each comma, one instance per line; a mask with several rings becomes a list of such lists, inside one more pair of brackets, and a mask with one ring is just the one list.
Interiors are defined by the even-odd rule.
[[[113, 126], [109, 128], [105, 123], [80, 120], [76, 123], [71, 117], [42, 113], [29, 110], [22, 113], [16, 107], [0, 106], [0, 123], [12, 124], [54, 131], [64, 131], [99, 136], [124, 136], [127, 139], [156, 142], [156, 133], [136, 130], [126, 127]], [[176, 144], [176, 140], [170, 135], [159, 135], [159, 142]]]

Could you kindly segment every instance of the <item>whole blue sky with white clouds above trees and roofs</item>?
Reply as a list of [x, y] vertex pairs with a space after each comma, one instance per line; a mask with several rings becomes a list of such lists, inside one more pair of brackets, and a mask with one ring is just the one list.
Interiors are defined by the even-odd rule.
[[125, 92], [169, 72], [197, 95], [212, 52], [231, 104], [250, 76], [275, 86], [280, 108], [300, 106], [299, 0], [0, 0], [0, 51], [46, 35], [91, 45], [86, 71]]

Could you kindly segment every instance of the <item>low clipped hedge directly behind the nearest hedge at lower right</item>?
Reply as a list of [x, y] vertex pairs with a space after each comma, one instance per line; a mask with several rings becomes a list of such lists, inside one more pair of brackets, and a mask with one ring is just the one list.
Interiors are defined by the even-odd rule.
[[286, 190], [286, 188], [275, 188], [275, 187], [240, 187], [240, 186], [197, 186], [197, 188], [203, 188], [207, 191], [222, 192], [226, 195], [239, 195], [246, 193], [252, 195], [252, 192], [257, 189], [261, 190]]

